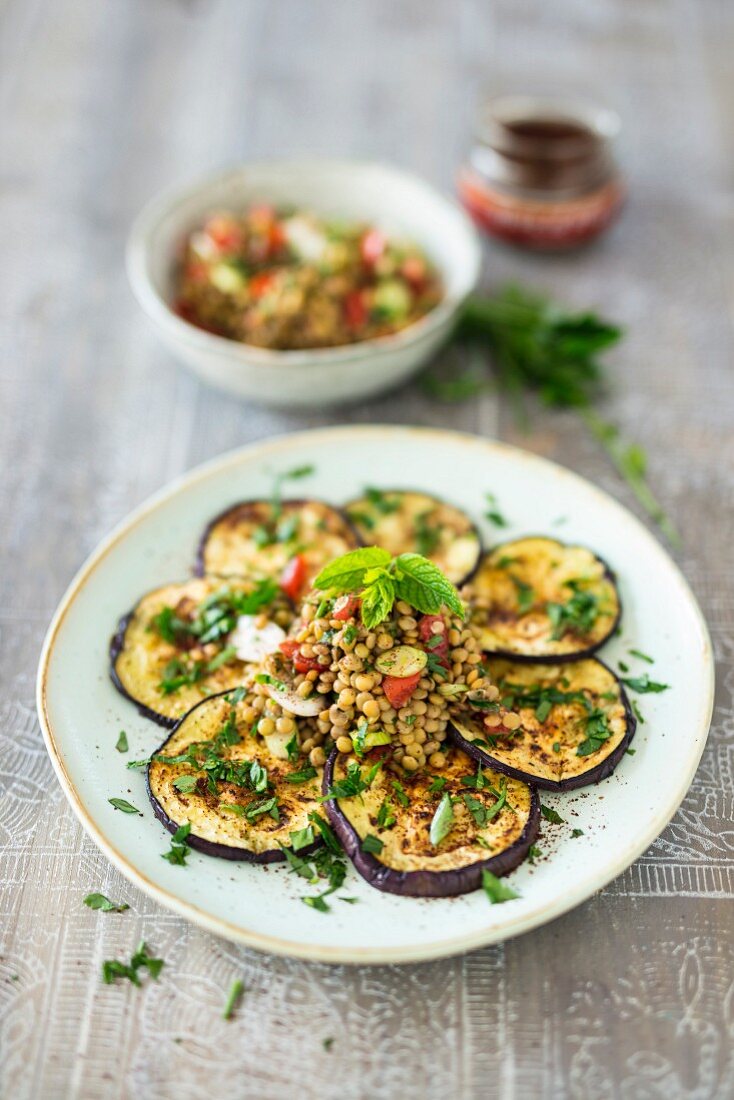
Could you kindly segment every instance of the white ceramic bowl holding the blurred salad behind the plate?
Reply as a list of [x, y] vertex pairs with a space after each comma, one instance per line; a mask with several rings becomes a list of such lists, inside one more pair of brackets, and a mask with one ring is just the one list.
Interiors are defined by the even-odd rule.
[[[212, 210], [259, 201], [368, 221], [415, 241], [441, 273], [442, 300], [395, 336], [343, 348], [271, 351], [189, 324], [171, 308], [177, 245]], [[476, 285], [481, 254], [462, 211], [408, 173], [381, 164], [292, 161], [244, 165], [165, 191], [136, 219], [127, 263], [158, 336], [205, 382], [261, 404], [318, 406], [370, 397], [414, 374], [448, 338]]]

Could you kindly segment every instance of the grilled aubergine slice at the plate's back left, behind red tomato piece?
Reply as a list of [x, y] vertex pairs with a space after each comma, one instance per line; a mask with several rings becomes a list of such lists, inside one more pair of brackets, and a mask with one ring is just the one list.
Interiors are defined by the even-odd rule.
[[340, 554], [360, 544], [344, 514], [321, 501], [242, 501], [216, 516], [199, 543], [196, 572], [281, 578], [298, 558], [299, 591]]

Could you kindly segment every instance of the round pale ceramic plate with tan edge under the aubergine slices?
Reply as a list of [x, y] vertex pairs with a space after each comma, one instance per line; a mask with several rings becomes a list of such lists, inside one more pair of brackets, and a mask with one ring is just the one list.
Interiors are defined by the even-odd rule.
[[[631, 674], [670, 684], [638, 697], [645, 723], [634, 755], [598, 787], [545, 794], [563, 825], [544, 822], [543, 857], [510, 882], [519, 897], [490, 904], [481, 891], [452, 899], [383, 894], [350, 870], [328, 913], [303, 903], [314, 893], [285, 865], [231, 864], [191, 853], [186, 867], [161, 858], [171, 837], [153, 816], [140, 772], [164, 730], [112, 688], [107, 647], [138, 596], [190, 570], [206, 521], [242, 497], [267, 496], [273, 477], [313, 464], [298, 495], [335, 504], [368, 485], [425, 490], [465, 508], [487, 544], [547, 532], [593, 547], [617, 573], [624, 614], [602, 657]], [[483, 519], [495, 495], [508, 526]], [[648, 666], [631, 658], [638, 649]], [[481, 947], [526, 932], [620, 875], [657, 837], [693, 778], [711, 717], [711, 644], [680, 572], [645, 528], [583, 479], [544, 459], [472, 436], [423, 428], [337, 428], [235, 451], [154, 496], [91, 556], [50, 627], [39, 670], [39, 712], [48, 752], [89, 835], [132, 882], [197, 924], [261, 950], [333, 963], [407, 963]], [[125, 729], [130, 752], [117, 751]], [[112, 809], [121, 796], [143, 816]], [[582, 829], [573, 836], [572, 829]]]

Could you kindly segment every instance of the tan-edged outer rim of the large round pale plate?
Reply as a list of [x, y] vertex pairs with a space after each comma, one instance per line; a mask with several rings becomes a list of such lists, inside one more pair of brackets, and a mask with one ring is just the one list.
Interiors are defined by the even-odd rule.
[[[607, 865], [603, 875], [599, 876], [598, 872], [594, 872], [585, 876], [582, 880], [572, 883], [571, 889], [562, 895], [559, 895], [559, 898], [552, 903], [546, 903], [532, 913], [527, 913], [524, 916], [515, 919], [514, 921], [510, 921], [501, 927], [478, 930], [472, 933], [454, 936], [450, 939], [431, 941], [426, 944], [401, 947], [343, 948], [320, 944], [298, 943], [297, 941], [283, 939], [278, 936], [270, 936], [263, 933], [244, 930], [222, 917], [213, 916], [211, 913], [200, 909], [193, 902], [183, 901], [175, 894], [171, 893], [165, 887], [153, 881], [152, 879], [149, 879], [147, 876], [143, 875], [142, 871], [134, 867], [134, 865], [131, 864], [125, 856], [118, 851], [101, 828], [97, 826], [91, 813], [87, 810], [81, 796], [77, 792], [72, 777], [66, 770], [63, 755], [59, 750], [59, 746], [57, 745], [56, 735], [54, 734], [47, 706], [48, 669], [53, 659], [54, 647], [61, 627], [87, 579], [97, 569], [100, 562], [105, 560], [117, 547], [117, 544], [122, 541], [128, 532], [136, 527], [151, 513], [155, 512], [163, 503], [179, 493], [185, 492], [190, 485], [205, 480], [209, 475], [219, 473], [228, 466], [237, 465], [243, 459], [253, 458], [255, 455], [267, 457], [276, 452], [297, 448], [304, 443], [318, 444], [319, 440], [324, 438], [331, 440], [341, 437], [351, 442], [355, 439], [355, 437], [371, 437], [374, 439], [377, 436], [384, 436], [386, 433], [393, 436], [418, 435], [423, 438], [434, 437], [443, 441], [449, 441], [453, 444], [459, 443], [463, 446], [471, 446], [484, 452], [500, 453], [514, 460], [524, 461], [530, 465], [549, 466], [555, 474], [560, 474], [576, 483], [580, 482], [587, 491], [590, 490], [593, 494], [601, 497], [605, 505], [611, 505], [613, 508], [618, 509], [618, 512], [624, 515], [625, 520], [632, 522], [636, 528], [637, 534], [650, 544], [654, 552], [665, 559], [666, 563], [672, 569], [672, 575], [679, 584], [682, 595], [688, 597], [704, 642], [703, 661], [706, 673], [704, 702], [701, 708], [695, 736], [692, 737], [690, 741], [691, 752], [688, 758], [687, 768], [684, 772], [681, 773], [682, 778], [678, 784], [675, 798], [670, 800], [664, 811], [658, 812], [655, 815], [648, 828], [640, 832], [633, 844], [628, 845], [624, 851], [617, 854], [614, 861]], [[639, 858], [650, 844], [653, 844], [665, 826], [672, 820], [681, 805], [695, 774], [705, 747], [711, 725], [711, 717], [713, 714], [714, 686], [715, 667], [711, 636], [698, 600], [695, 598], [688, 581], [683, 576], [678, 563], [654, 537], [648, 528], [632, 512], [629, 512], [623, 504], [604, 490], [601, 490], [593, 482], [590, 482], [581, 474], [569, 470], [567, 466], [563, 466], [551, 459], [535, 454], [532, 451], [524, 450], [523, 448], [516, 447], [512, 443], [504, 443], [495, 439], [483, 439], [472, 432], [416, 425], [353, 425], [287, 432], [272, 437], [271, 439], [256, 440], [254, 442], [247, 443], [243, 447], [238, 447], [233, 450], [224, 452], [223, 454], [217, 455], [213, 459], [209, 459], [208, 461], [194, 466], [191, 470], [183, 474], [179, 474], [173, 481], [167, 482], [151, 496], [146, 497], [140, 505], [124, 516], [123, 519], [113, 527], [110, 534], [106, 536], [106, 538], [103, 538], [87, 557], [80, 569], [70, 581], [66, 592], [56, 607], [46, 630], [39, 660], [36, 676], [36, 710], [46, 751], [51, 758], [54, 771], [56, 772], [56, 777], [67, 801], [72, 806], [72, 810], [76, 814], [85, 832], [130, 882], [158, 904], [168, 910], [173, 910], [178, 915], [186, 917], [199, 927], [206, 928], [208, 932], [223, 936], [229, 941], [243, 944], [247, 947], [252, 947], [256, 950], [265, 952], [272, 955], [333, 965], [394, 965], [448, 958], [454, 955], [476, 950], [480, 947], [486, 947], [494, 943], [501, 943], [505, 939], [511, 939], [514, 936], [522, 935], [525, 932], [529, 932], [533, 928], [547, 924], [556, 917], [569, 912], [577, 905], [587, 901], [598, 890], [603, 889], [613, 879], [617, 878], [624, 870], [627, 869], [627, 867]]]

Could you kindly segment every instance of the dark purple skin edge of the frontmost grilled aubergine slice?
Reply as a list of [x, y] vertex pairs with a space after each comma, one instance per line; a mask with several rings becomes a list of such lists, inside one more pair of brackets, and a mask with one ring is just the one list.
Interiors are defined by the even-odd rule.
[[[339, 756], [337, 749], [326, 762], [322, 791], [326, 794], [333, 781], [333, 766]], [[482, 859], [469, 867], [458, 867], [452, 871], [395, 871], [381, 864], [371, 853], [362, 851], [360, 837], [336, 800], [325, 802], [327, 816], [339, 842], [363, 879], [384, 893], [403, 898], [456, 898], [471, 893], [482, 884], [482, 871], [490, 871], [500, 878], [518, 867], [538, 835], [540, 827], [540, 799], [530, 788], [530, 814], [525, 828], [512, 847], [490, 859]]]

